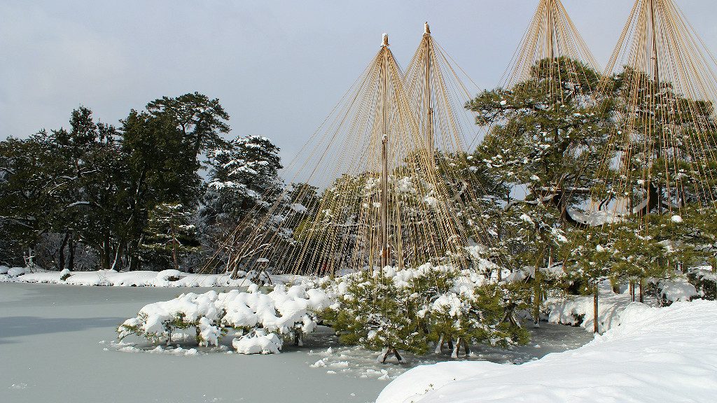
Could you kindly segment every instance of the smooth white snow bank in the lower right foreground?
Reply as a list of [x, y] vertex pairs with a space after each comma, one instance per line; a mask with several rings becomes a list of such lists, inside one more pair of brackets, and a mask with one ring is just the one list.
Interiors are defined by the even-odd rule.
[[713, 402], [717, 302], [632, 303], [579, 349], [521, 365], [444, 362], [392, 381], [376, 403]]

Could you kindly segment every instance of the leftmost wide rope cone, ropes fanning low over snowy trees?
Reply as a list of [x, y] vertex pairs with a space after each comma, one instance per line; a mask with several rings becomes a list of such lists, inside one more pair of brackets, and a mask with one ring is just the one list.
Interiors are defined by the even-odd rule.
[[[439, 67], [424, 69], [424, 82], [442, 92]], [[220, 262], [233, 275], [267, 267], [333, 275], [425, 262], [469, 266], [465, 247], [477, 225], [466, 225], [461, 212], [470, 191], [441, 169], [448, 158], [437, 158], [465, 160], [463, 139], [452, 129], [449, 141], [442, 130], [445, 103], [429, 102], [436, 111], [426, 120], [406, 77], [413, 73], [404, 75], [384, 35], [364, 73], [285, 169], [289, 185], [267, 192], [264, 199], [275, 201], [247, 214], [205, 270]]]

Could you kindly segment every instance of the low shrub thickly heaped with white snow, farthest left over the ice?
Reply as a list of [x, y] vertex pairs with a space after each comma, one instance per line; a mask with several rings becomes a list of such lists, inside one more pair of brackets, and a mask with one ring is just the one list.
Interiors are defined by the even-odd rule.
[[[197, 343], [217, 346], [233, 330], [237, 339], [232, 344], [237, 351], [266, 354], [281, 349], [282, 343], [275, 338], [293, 336], [300, 341], [305, 333], [314, 331], [316, 312], [328, 305], [331, 298], [310, 285], [276, 285], [270, 293], [260, 292], [256, 285], [246, 293], [187, 293], [145, 305], [117, 331], [119, 338], [136, 334], [153, 343], [170, 343], [174, 330], [194, 327]], [[261, 347], [258, 351], [257, 346]]]

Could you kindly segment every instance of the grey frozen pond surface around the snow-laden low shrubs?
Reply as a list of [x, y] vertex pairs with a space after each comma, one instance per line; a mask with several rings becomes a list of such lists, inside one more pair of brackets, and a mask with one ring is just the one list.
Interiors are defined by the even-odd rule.
[[[0, 283], [0, 402], [364, 403], [386, 379], [447, 359], [377, 364], [375, 352], [338, 346], [327, 328], [303, 348], [270, 356], [148, 354], [113, 344], [116, 326], [143, 305], [204, 290]], [[470, 359], [519, 364], [591, 339], [581, 328], [543, 323], [528, 346], [475, 347]]]

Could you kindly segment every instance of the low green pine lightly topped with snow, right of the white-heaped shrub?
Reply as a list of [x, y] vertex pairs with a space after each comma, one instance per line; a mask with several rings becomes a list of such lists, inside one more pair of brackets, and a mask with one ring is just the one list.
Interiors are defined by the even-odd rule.
[[498, 285], [475, 270], [386, 266], [346, 275], [335, 287], [336, 304], [323, 317], [343, 343], [383, 349], [384, 361], [391, 353], [400, 361], [399, 350], [423, 354], [429, 341], [440, 349], [443, 341], [455, 340], [454, 355], [461, 342], [467, 348], [527, 341], [514, 315], [520, 305], [516, 286]]

